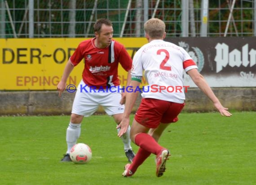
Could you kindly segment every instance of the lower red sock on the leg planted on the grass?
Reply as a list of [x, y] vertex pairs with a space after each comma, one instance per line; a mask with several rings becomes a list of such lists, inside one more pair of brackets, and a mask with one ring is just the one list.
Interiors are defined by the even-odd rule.
[[150, 156], [150, 152], [139, 148], [137, 154], [132, 159], [132, 164], [129, 167], [129, 170], [134, 174], [137, 171], [137, 168]]

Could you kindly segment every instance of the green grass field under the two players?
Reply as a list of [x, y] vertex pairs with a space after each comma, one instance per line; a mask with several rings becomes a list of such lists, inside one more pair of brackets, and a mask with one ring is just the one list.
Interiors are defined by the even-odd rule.
[[123, 143], [107, 115], [83, 121], [78, 142], [93, 151], [84, 165], [59, 162], [69, 116], [0, 117], [0, 185], [256, 184], [256, 112], [234, 112], [231, 118], [181, 113], [179, 119], [159, 141], [172, 154], [164, 175], [155, 176], [151, 155], [124, 178]]

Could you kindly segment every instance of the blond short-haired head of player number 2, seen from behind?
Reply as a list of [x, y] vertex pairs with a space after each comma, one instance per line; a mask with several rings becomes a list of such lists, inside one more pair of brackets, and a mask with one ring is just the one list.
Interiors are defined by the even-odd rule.
[[158, 18], [150, 18], [144, 24], [144, 30], [152, 39], [162, 39], [165, 32], [165, 24]]

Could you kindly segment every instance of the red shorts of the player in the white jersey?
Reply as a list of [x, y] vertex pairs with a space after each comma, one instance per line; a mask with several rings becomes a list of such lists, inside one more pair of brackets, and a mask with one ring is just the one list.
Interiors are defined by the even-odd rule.
[[160, 123], [174, 123], [185, 103], [142, 98], [134, 119], [147, 128], [157, 128]]

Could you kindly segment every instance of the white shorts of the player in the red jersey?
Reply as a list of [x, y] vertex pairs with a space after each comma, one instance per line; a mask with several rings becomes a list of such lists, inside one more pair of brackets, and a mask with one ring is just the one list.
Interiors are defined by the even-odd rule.
[[[80, 88], [81, 85], [83, 88]], [[81, 80], [76, 89], [72, 113], [88, 117], [96, 112], [100, 105], [108, 115], [124, 113], [124, 105], [120, 105], [119, 103], [122, 97], [121, 92], [116, 91], [111, 93], [106, 89], [105, 91], [98, 91], [98, 89], [96, 89], [96, 92], [94, 92], [90, 87], [84, 86], [86, 86], [86, 84]]]

